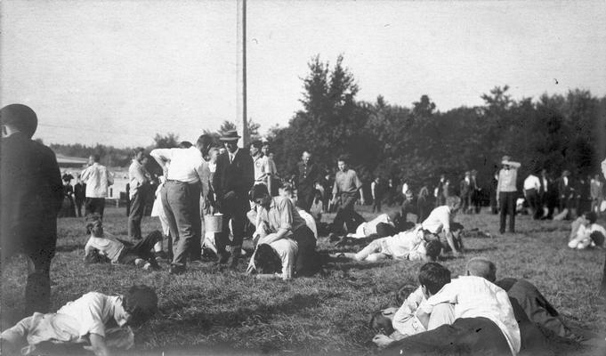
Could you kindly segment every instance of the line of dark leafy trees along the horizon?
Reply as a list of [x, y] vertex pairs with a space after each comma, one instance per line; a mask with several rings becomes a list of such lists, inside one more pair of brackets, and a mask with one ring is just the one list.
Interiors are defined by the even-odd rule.
[[[521, 162], [520, 177], [543, 168], [553, 176], [565, 169], [573, 175], [596, 174], [604, 158], [606, 96], [598, 98], [588, 90], [516, 101], [507, 85], [497, 86], [481, 95], [481, 106], [440, 112], [428, 95], [411, 107], [389, 103], [381, 95], [375, 102], [357, 101], [360, 87], [343, 66], [343, 56], [331, 66], [317, 55], [308, 67], [303, 109], [286, 126], [272, 126], [267, 135], [283, 177], [295, 173], [303, 150], [329, 171], [335, 170], [338, 157], [346, 156], [365, 182], [381, 176], [413, 187], [433, 183], [440, 174], [457, 182], [471, 169], [488, 184], [505, 154]], [[248, 125], [251, 138], [260, 138], [260, 125], [252, 120]], [[218, 145], [219, 137], [235, 128], [224, 121], [218, 131], [204, 134]], [[157, 134], [147, 149], [178, 143], [176, 134]], [[50, 146], [68, 156], [99, 153], [109, 166], [127, 166], [132, 150], [100, 144]]]

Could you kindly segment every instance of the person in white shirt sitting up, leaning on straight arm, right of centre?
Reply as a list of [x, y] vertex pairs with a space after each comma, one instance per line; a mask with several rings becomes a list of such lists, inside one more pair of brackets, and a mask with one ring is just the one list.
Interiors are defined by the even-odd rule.
[[[461, 198], [448, 197], [445, 206], [438, 206], [432, 210], [427, 219], [421, 223], [425, 231], [429, 231], [440, 239], [440, 232], [443, 232], [444, 238], [448, 242], [448, 247], [453, 255], [463, 255], [463, 239], [460, 231], [453, 229], [453, 219], [461, 206]], [[457, 226], [461, 226], [457, 224]]]

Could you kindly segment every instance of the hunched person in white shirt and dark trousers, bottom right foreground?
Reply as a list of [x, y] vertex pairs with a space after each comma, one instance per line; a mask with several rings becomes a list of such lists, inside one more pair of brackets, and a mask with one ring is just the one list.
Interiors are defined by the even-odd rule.
[[516, 355], [520, 351], [520, 328], [502, 288], [481, 277], [460, 276], [439, 290], [425, 286], [423, 291], [426, 301], [419, 304], [416, 318], [424, 328], [430, 317], [437, 317], [432, 314], [441, 303], [454, 304], [455, 321], [392, 341], [383, 354]]

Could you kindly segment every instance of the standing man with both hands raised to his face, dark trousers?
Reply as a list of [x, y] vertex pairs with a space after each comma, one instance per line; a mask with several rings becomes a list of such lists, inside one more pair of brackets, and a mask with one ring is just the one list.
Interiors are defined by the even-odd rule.
[[498, 172], [497, 204], [501, 214], [501, 225], [499, 232], [505, 233], [505, 220], [509, 214], [509, 232], [515, 232], [515, 199], [518, 195], [516, 186], [518, 180], [518, 168], [521, 164], [513, 162], [509, 156], [501, 159], [501, 170]]

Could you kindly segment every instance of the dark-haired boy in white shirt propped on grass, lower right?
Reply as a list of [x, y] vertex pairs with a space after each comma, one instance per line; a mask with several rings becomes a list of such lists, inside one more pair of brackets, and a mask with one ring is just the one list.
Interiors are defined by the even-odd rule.
[[[401, 306], [397, 312], [391, 313], [391, 310], [387, 309], [382, 315], [375, 314], [373, 316], [373, 320], [377, 320], [378, 325], [384, 324], [385, 321], [382, 320], [383, 318], [391, 319], [392, 322], [392, 332], [390, 334], [381, 333], [373, 338], [373, 342], [377, 346], [386, 347], [404, 337], [416, 335], [426, 330], [432, 330], [441, 325], [452, 324], [454, 322], [454, 305], [452, 303], [436, 305], [427, 321], [427, 325], [424, 325], [416, 317], [416, 312], [419, 306], [425, 303], [426, 296], [437, 293], [441, 287], [450, 283], [450, 271], [440, 265], [440, 263], [425, 263], [419, 270], [418, 279], [421, 287], [409, 285], [404, 287], [409, 294], [400, 303]], [[388, 328], [385, 329], [390, 330]]]

